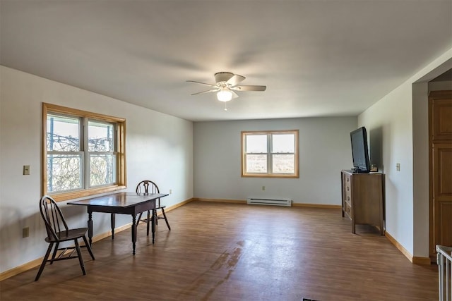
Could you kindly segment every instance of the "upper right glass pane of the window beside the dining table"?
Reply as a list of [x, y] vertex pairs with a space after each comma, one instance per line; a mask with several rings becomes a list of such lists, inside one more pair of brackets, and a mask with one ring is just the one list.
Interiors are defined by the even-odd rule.
[[88, 121], [88, 151], [114, 152], [113, 125]]

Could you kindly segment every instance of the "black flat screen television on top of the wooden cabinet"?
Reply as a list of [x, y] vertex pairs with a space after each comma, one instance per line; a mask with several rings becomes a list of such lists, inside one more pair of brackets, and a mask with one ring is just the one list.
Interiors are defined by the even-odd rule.
[[355, 173], [369, 173], [370, 164], [366, 128], [363, 126], [352, 131], [350, 140], [352, 140], [353, 170]]

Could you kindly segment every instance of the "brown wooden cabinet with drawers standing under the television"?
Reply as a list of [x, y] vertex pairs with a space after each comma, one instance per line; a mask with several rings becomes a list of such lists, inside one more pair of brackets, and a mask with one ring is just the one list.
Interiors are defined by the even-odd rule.
[[352, 220], [352, 233], [358, 224], [379, 228], [383, 235], [383, 173], [353, 173], [343, 170], [342, 216]]

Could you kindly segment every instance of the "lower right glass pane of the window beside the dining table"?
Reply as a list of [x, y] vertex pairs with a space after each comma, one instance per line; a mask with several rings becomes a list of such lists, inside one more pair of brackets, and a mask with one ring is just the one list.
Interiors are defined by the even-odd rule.
[[115, 156], [113, 154], [90, 155], [90, 185], [106, 185], [115, 182]]

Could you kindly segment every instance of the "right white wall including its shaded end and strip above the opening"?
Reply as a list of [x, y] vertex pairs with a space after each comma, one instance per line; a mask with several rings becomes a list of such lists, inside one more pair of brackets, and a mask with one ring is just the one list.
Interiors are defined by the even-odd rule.
[[449, 49], [358, 116], [385, 173], [386, 231], [415, 257], [429, 257], [427, 82], [450, 69], [451, 58]]

